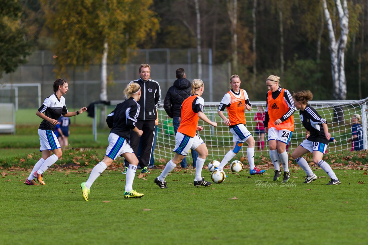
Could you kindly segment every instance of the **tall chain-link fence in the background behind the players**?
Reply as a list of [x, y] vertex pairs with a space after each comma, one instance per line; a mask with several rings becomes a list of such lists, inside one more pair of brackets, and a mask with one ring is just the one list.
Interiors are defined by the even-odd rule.
[[[198, 77], [197, 50], [195, 49], [144, 49], [131, 50], [125, 64], [107, 66], [109, 82], [107, 96], [109, 100], [122, 100], [123, 90], [130, 81], [139, 78], [138, 68], [142, 63], [151, 65], [151, 78], [159, 82], [162, 101], [166, 91], [176, 80], [177, 68], [184, 68], [186, 78], [200, 78], [206, 90], [202, 97], [205, 101], [219, 101], [228, 91], [231, 67], [226, 64], [212, 64], [211, 49], [202, 51], [202, 76]], [[17, 71], [4, 74], [0, 79], [0, 101], [15, 103], [14, 90], [1, 90], [1, 85], [15, 83], [40, 83], [42, 101], [53, 93], [53, 82], [57, 76], [54, 72], [55, 61], [51, 51], [35, 51], [28, 57], [28, 63], [18, 67]], [[69, 91], [64, 96], [68, 108], [87, 106], [92, 101], [100, 100], [101, 65], [90, 65], [88, 70], [83, 67], [67, 70]], [[37, 91], [23, 90], [17, 95], [22, 98], [19, 108], [38, 108]]]

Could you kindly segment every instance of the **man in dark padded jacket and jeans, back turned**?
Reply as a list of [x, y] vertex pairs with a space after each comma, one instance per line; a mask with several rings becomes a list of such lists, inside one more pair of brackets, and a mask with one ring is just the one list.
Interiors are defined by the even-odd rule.
[[[192, 93], [191, 83], [189, 80], [185, 79], [185, 71], [183, 68], [178, 68], [176, 70], [176, 78], [177, 79], [175, 80], [174, 85], [167, 90], [166, 97], [163, 102], [163, 108], [165, 109], [167, 115], [173, 119], [175, 134], [180, 125], [179, 118], [181, 117], [181, 104], [186, 98], [191, 96]], [[191, 150], [191, 152], [193, 158], [193, 167], [195, 168], [198, 153], [197, 151], [193, 150]], [[184, 158], [180, 165], [181, 167], [187, 167], [187, 159]]]

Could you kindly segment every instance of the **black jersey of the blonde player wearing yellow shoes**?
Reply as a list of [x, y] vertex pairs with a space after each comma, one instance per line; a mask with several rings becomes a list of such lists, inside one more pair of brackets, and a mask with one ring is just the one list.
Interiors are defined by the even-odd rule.
[[111, 129], [110, 133], [129, 140], [130, 130], [135, 128], [140, 109], [141, 106], [133, 97], [117, 104], [106, 118], [107, 126]]

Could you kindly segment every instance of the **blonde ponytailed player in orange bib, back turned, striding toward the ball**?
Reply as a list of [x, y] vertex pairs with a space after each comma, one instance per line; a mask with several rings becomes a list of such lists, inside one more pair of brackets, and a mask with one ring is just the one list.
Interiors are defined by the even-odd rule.
[[204, 100], [200, 97], [204, 91], [203, 81], [201, 79], [194, 79], [191, 85], [192, 96], [186, 98], [181, 105], [181, 118], [179, 118], [181, 122], [175, 135], [176, 145], [173, 150], [175, 152], [174, 158], [166, 164], [160, 176], [155, 179], [155, 183], [160, 188], [167, 188], [165, 181], [167, 174], [184, 159], [189, 149], [195, 150], [199, 154], [195, 168], [194, 186], [212, 185], [211, 182], [205, 181], [205, 178], [202, 178], [202, 168], [208, 156], [208, 149], [196, 131], [203, 130], [203, 127], [198, 126], [199, 118], [213, 127], [216, 127], [217, 123], [209, 120], [203, 113]]

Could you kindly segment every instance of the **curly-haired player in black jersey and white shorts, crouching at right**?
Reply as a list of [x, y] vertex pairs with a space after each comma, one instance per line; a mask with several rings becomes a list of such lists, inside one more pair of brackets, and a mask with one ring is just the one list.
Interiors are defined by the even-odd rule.
[[328, 132], [326, 120], [321, 118], [318, 112], [308, 105], [308, 101], [312, 100], [312, 98], [313, 94], [309, 90], [293, 94], [294, 105], [300, 110], [300, 119], [307, 131], [305, 131], [305, 140], [293, 151], [291, 157], [307, 174], [304, 183], [311, 183], [317, 179], [317, 176], [309, 167], [308, 162], [302, 158], [302, 155], [312, 152], [313, 162], [325, 170], [331, 178], [328, 185], [337, 185], [340, 184], [340, 180], [337, 179], [330, 165], [322, 160], [331, 134]]

